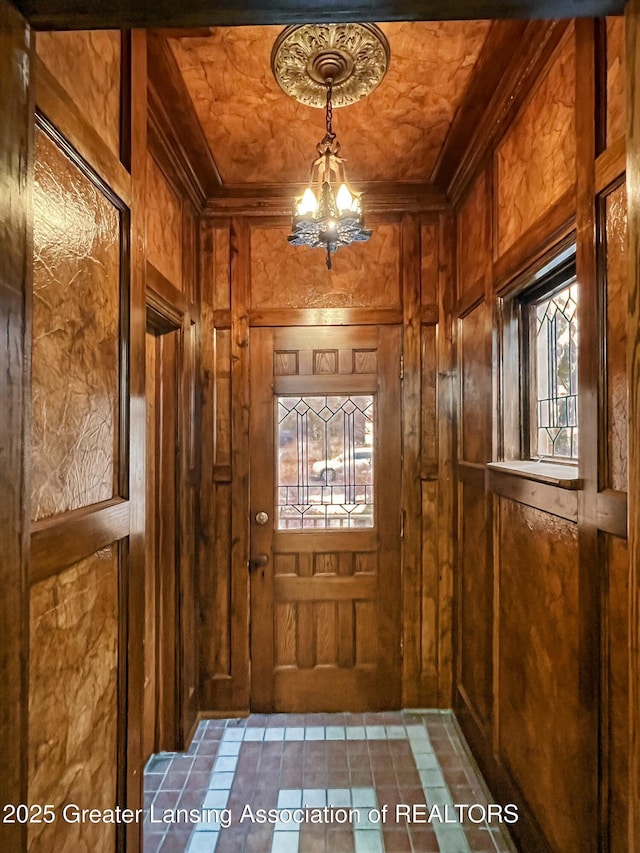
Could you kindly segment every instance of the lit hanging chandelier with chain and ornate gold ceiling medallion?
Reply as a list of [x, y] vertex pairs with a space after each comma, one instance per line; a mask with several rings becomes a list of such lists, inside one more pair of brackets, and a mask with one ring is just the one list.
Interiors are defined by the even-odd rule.
[[294, 246], [322, 248], [331, 255], [368, 240], [362, 193], [347, 182], [340, 143], [333, 132], [333, 107], [366, 97], [384, 77], [389, 46], [374, 24], [305, 24], [287, 27], [277, 39], [271, 66], [281, 88], [309, 106], [325, 108], [325, 135], [316, 146], [309, 184], [295, 199]]

